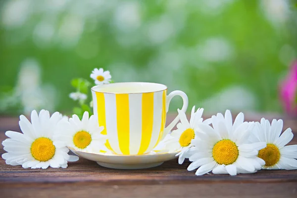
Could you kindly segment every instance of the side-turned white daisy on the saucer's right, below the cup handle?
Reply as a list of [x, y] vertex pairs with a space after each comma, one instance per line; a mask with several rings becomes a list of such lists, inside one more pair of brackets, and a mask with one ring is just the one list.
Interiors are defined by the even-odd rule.
[[[202, 113], [203, 108], [198, 108], [195, 112], [195, 106], [193, 106], [189, 122], [186, 114], [178, 109], [178, 116], [181, 122], [177, 124], [177, 130], [172, 131], [170, 134], [172, 138], [166, 141], [166, 148], [169, 150], [169, 152], [180, 150], [180, 152], [177, 154], [177, 156], [179, 155], [179, 164], [182, 164], [185, 158], [188, 157], [188, 149], [193, 146], [191, 141], [197, 135], [196, 133], [198, 123], [203, 121], [203, 118], [201, 118]], [[204, 123], [209, 121], [209, 119], [205, 120]]]

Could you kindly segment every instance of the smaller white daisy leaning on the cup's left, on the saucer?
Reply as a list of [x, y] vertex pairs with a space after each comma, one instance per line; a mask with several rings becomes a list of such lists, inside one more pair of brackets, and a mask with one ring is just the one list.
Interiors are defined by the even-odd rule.
[[104, 145], [107, 136], [101, 134], [103, 128], [99, 127], [98, 119], [94, 115], [89, 118], [89, 113], [85, 111], [82, 120], [75, 114], [69, 118], [69, 122], [64, 120], [60, 130], [68, 147], [99, 153], [108, 150]]

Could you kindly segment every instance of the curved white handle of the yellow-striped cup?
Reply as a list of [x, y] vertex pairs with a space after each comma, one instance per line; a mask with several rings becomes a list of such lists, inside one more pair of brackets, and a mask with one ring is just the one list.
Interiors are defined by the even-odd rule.
[[[183, 104], [181, 111], [186, 112], [186, 110], [188, 108], [188, 104], [189, 104], [189, 99], [188, 99], [187, 95], [182, 91], [173, 91], [166, 97], [166, 113], [168, 112], [169, 103], [170, 103], [171, 99], [175, 96], [182, 97], [184, 104]], [[174, 118], [174, 120], [164, 129], [163, 136], [162, 136], [161, 140], [163, 140], [165, 138], [165, 136], [173, 129], [173, 127], [178, 123], [179, 120], [180, 120], [180, 118], [177, 115], [176, 118]]]

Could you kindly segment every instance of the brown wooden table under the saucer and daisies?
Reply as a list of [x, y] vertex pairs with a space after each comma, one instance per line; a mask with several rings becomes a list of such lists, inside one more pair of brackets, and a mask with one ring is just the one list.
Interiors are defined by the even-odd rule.
[[[247, 120], [258, 121], [261, 117], [250, 114]], [[295, 134], [290, 144], [297, 144], [297, 119], [284, 118], [284, 125]], [[20, 131], [18, 118], [0, 117], [0, 142], [6, 138], [6, 130]], [[67, 169], [43, 170], [6, 165], [0, 157], [0, 198], [297, 198], [297, 170], [196, 176], [187, 171], [189, 164], [186, 161], [179, 165], [175, 159], [155, 168], [115, 170], [80, 158], [78, 162], [69, 162]]]

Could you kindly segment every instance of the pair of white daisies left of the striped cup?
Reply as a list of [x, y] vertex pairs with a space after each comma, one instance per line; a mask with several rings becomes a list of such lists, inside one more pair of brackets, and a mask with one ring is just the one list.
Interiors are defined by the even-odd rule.
[[7, 131], [9, 137], [2, 142], [6, 153], [2, 154], [6, 164], [22, 165], [23, 168], [66, 168], [68, 161], [77, 161], [78, 156], [69, 155], [67, 147], [88, 152], [106, 152], [106, 135], [99, 127], [94, 115], [89, 118], [85, 112], [80, 120], [55, 112], [35, 110], [31, 113], [31, 122], [20, 116], [19, 126], [23, 133]]

